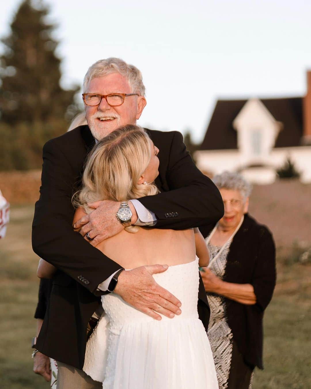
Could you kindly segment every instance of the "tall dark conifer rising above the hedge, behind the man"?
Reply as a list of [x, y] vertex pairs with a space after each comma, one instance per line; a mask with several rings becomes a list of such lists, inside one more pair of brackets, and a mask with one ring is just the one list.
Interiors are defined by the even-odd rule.
[[66, 91], [59, 85], [61, 61], [55, 54], [58, 42], [52, 38], [56, 26], [45, 21], [48, 12], [47, 7], [37, 9], [24, 0], [10, 35], [2, 39], [0, 111], [7, 124], [64, 119], [79, 89]]

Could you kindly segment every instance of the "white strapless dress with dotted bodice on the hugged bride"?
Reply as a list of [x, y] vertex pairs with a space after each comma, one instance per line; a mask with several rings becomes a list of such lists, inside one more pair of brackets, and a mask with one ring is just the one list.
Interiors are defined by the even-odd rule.
[[117, 294], [102, 296], [105, 317], [88, 342], [84, 371], [103, 380], [103, 389], [218, 389], [210, 343], [197, 313], [197, 259], [153, 277], [182, 302], [182, 314], [157, 321]]

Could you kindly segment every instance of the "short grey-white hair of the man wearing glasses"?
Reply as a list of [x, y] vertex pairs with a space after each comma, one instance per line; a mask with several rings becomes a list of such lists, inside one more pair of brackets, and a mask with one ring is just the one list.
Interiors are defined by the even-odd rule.
[[111, 73], [119, 73], [126, 77], [132, 93], [145, 96], [145, 86], [143, 84], [142, 73], [134, 65], [129, 65], [120, 58], [107, 58], [95, 63], [87, 70], [83, 81], [83, 92], [86, 92], [87, 84], [95, 77], [102, 77]]

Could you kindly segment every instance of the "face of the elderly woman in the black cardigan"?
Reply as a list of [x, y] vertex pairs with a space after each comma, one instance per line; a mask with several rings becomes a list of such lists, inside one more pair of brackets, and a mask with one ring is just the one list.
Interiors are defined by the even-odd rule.
[[248, 211], [249, 198], [243, 198], [236, 189], [219, 189], [224, 202], [225, 213], [219, 225], [223, 228], [237, 227], [242, 216]]

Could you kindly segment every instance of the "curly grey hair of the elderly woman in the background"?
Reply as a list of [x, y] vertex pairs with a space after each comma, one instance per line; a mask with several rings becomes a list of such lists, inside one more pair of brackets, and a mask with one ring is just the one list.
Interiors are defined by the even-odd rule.
[[246, 181], [239, 173], [225, 171], [221, 174], [214, 175], [212, 180], [218, 189], [225, 188], [238, 190], [244, 200], [252, 193], [252, 184]]

